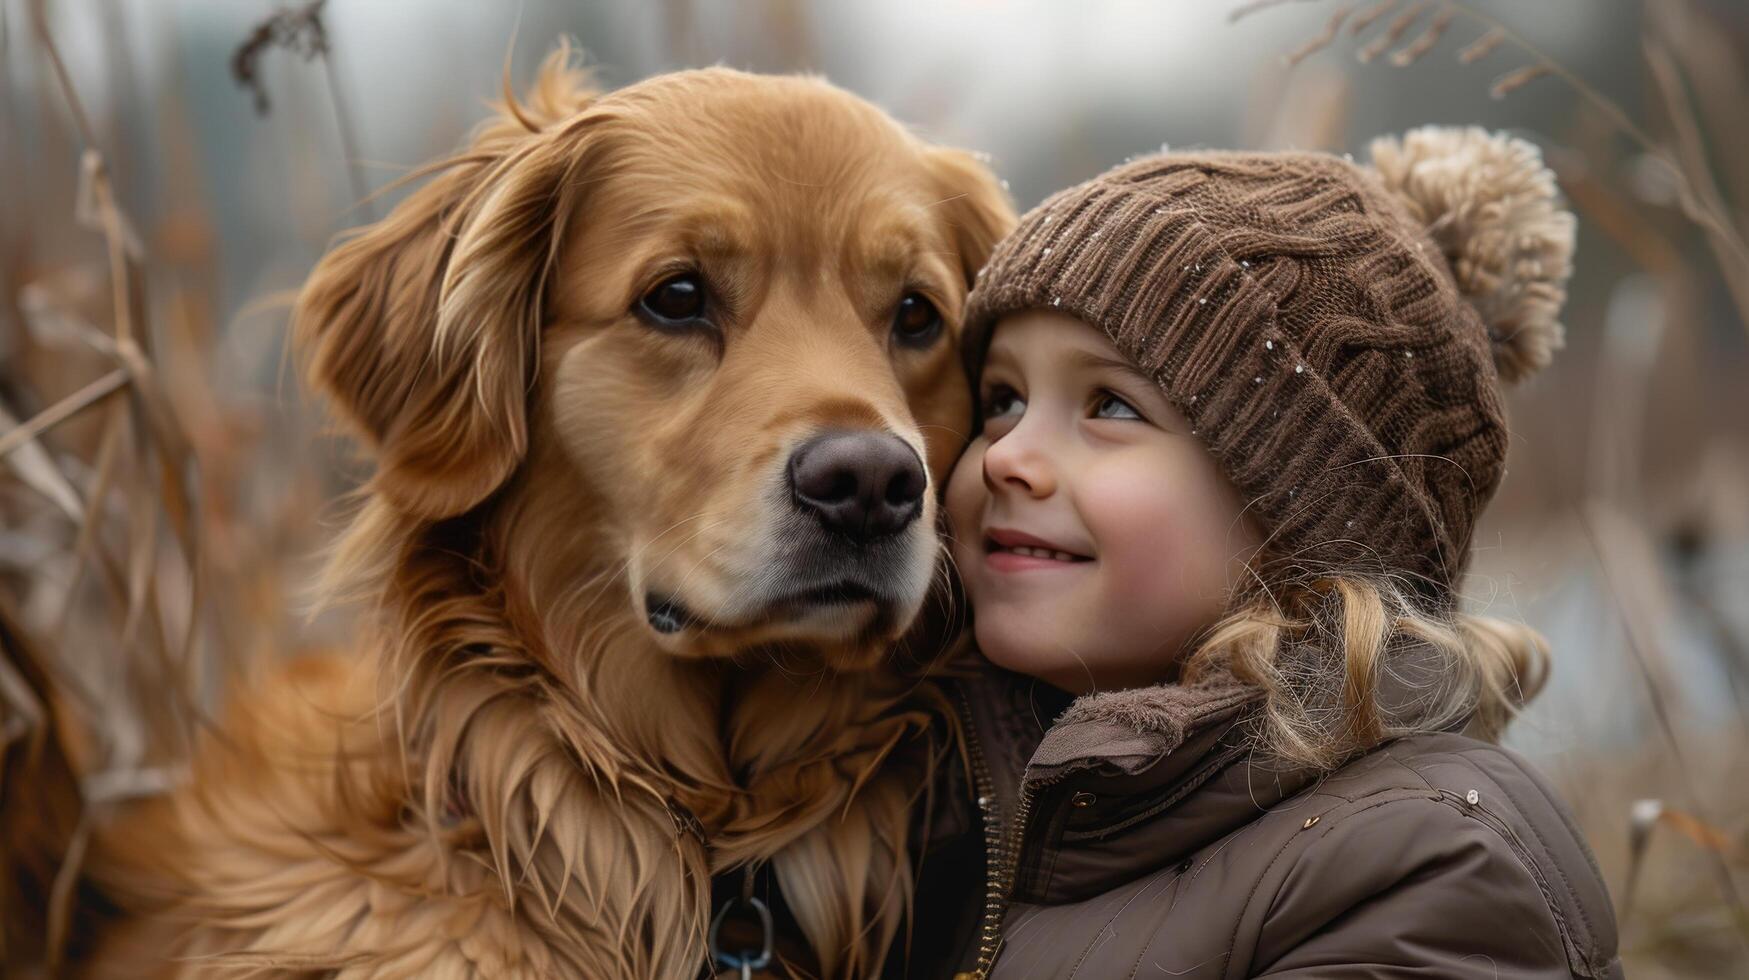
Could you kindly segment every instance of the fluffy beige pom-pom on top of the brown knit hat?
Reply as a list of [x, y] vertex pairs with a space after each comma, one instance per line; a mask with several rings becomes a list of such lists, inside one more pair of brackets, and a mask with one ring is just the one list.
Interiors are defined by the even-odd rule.
[[1564, 343], [1574, 217], [1534, 144], [1481, 128], [1424, 126], [1371, 145], [1385, 187], [1445, 252], [1481, 313], [1506, 382], [1527, 378]]

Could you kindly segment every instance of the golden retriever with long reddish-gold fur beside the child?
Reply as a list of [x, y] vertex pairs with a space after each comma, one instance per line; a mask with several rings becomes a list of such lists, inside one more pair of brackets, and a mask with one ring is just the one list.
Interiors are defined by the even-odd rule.
[[1006, 194], [819, 79], [563, 52], [427, 177], [294, 310], [376, 464], [329, 565], [371, 634], [110, 821], [87, 973], [693, 978], [750, 866], [791, 970], [874, 973]]

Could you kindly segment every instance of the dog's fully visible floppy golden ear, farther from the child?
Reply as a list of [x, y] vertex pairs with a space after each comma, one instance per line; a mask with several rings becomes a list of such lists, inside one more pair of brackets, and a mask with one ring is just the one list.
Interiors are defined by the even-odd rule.
[[582, 72], [542, 65], [502, 117], [311, 271], [292, 315], [310, 383], [378, 457], [371, 488], [427, 520], [521, 462], [547, 271], [591, 150]]

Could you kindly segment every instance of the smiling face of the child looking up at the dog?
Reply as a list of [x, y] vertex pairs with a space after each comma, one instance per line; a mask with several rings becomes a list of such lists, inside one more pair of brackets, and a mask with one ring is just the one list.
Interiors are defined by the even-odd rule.
[[1167, 679], [1261, 537], [1214, 457], [1095, 327], [997, 324], [948, 481], [978, 646], [1072, 693]]

